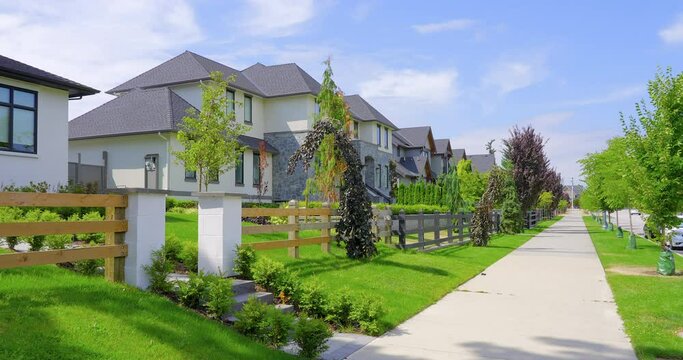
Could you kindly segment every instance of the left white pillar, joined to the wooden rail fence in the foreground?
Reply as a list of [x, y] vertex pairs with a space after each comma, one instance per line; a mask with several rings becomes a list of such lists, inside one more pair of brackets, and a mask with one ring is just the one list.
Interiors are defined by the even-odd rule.
[[126, 283], [147, 289], [149, 278], [144, 266], [152, 263], [152, 252], [166, 241], [166, 192], [152, 189], [126, 189], [128, 256], [124, 267]]

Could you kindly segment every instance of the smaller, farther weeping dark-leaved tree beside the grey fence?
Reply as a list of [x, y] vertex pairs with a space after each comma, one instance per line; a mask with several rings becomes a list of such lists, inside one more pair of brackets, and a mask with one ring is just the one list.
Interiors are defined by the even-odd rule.
[[491, 239], [491, 228], [493, 219], [491, 213], [493, 207], [500, 201], [505, 186], [504, 170], [495, 167], [489, 173], [489, 182], [486, 191], [482, 195], [479, 204], [474, 209], [472, 224], [470, 225], [470, 238], [474, 246], [486, 246]]

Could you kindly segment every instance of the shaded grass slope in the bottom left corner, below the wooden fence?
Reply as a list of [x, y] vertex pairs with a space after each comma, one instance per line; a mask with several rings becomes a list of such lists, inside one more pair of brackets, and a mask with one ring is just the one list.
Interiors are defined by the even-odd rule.
[[291, 359], [137, 289], [56, 266], [0, 270], [2, 359]]

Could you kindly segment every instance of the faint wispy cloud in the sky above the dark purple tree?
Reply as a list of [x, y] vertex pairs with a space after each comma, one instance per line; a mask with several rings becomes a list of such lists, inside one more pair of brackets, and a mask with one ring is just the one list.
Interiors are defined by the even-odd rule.
[[546, 74], [545, 63], [540, 59], [499, 61], [491, 66], [482, 82], [505, 95], [542, 81]]

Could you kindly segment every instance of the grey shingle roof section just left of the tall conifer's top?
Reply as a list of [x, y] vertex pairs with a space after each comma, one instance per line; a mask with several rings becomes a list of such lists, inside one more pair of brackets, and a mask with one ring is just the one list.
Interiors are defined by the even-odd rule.
[[320, 83], [297, 64], [266, 66], [256, 63], [242, 70], [242, 74], [258, 87], [264, 97], [317, 95], [320, 92]]

